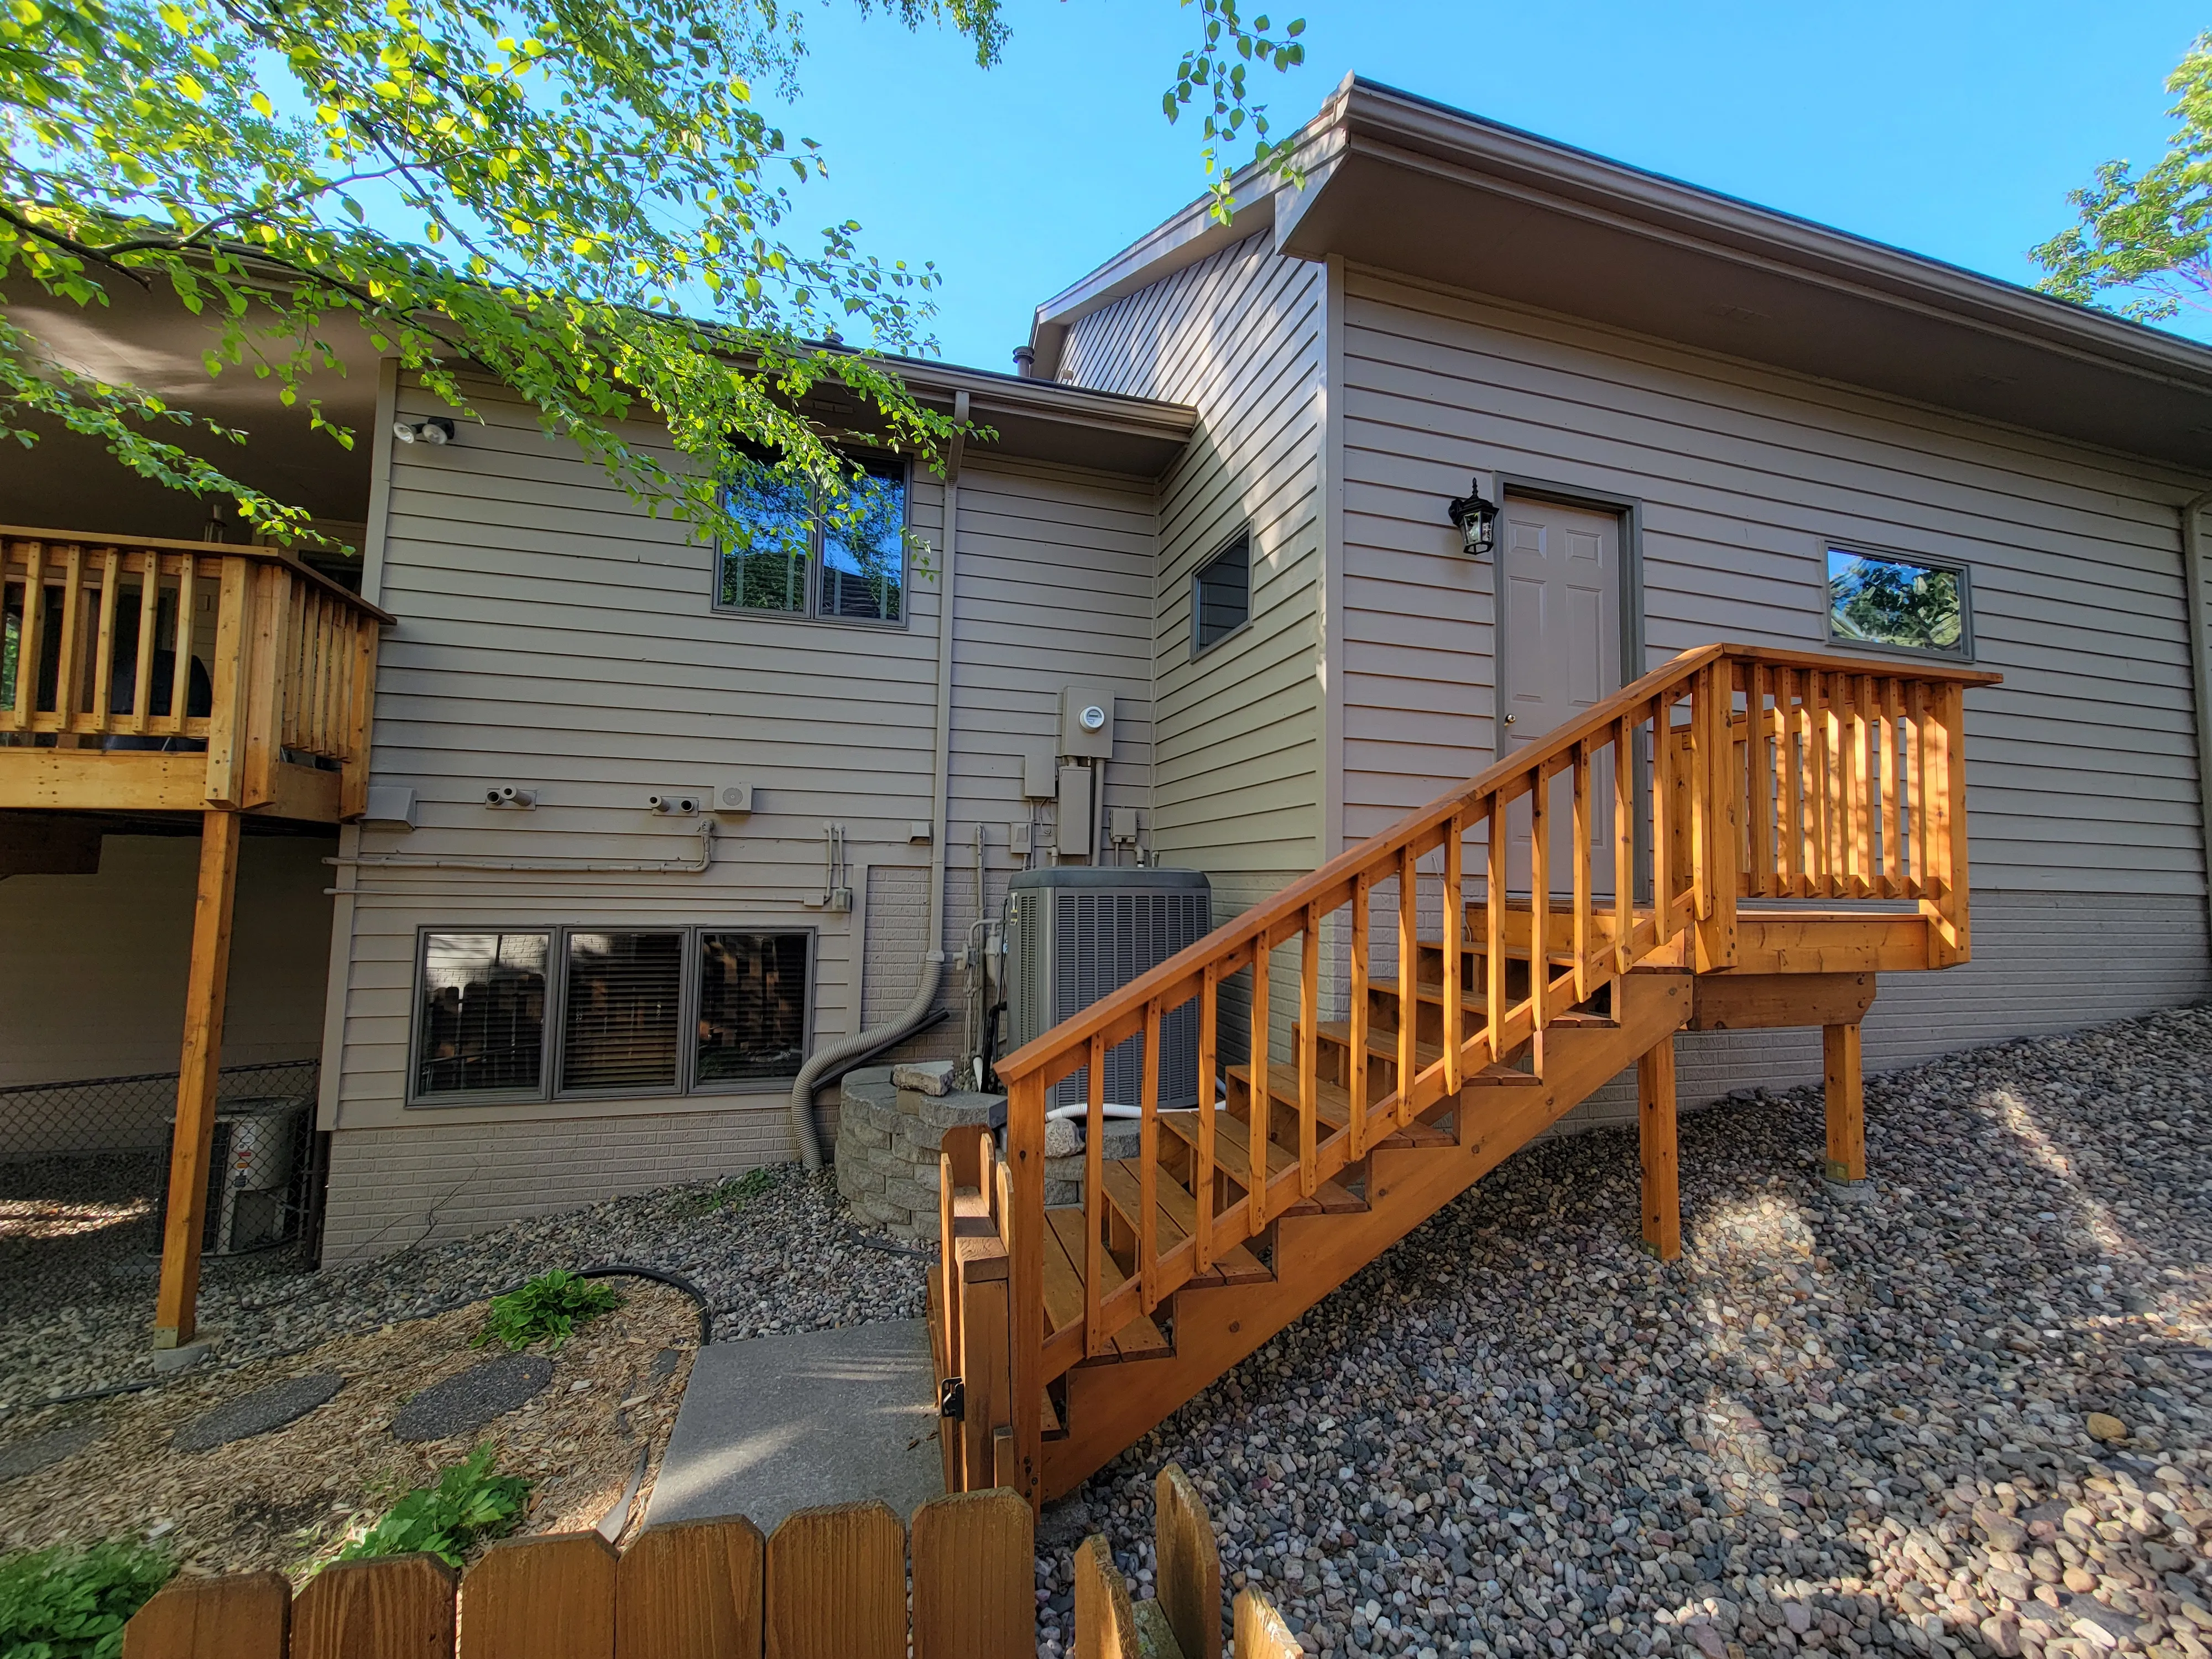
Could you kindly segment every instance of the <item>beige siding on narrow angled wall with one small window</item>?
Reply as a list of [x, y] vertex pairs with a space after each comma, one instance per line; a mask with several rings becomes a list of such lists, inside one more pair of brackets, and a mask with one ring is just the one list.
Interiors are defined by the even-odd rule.
[[[1062, 380], [1190, 403], [1159, 495], [1155, 841], [1230, 916], [1321, 856], [1325, 283], [1248, 237], [1075, 323]], [[1252, 531], [1252, 622], [1190, 653], [1190, 580]]]

